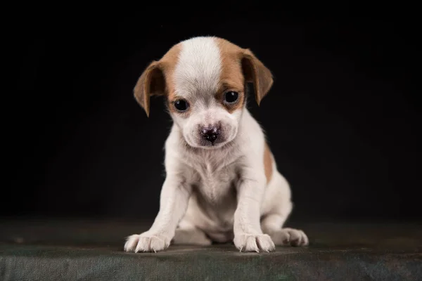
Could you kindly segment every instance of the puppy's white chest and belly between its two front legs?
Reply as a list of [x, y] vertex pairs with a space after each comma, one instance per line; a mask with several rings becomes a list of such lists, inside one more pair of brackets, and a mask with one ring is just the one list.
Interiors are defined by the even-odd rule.
[[186, 178], [193, 187], [188, 217], [216, 240], [225, 241], [233, 229], [240, 159], [236, 153], [217, 151], [183, 158]]

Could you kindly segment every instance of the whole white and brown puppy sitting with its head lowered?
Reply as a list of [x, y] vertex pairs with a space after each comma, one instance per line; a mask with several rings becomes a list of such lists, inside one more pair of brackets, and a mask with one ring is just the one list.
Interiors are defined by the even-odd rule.
[[308, 244], [302, 230], [282, 228], [290, 187], [246, 108], [250, 82], [259, 105], [271, 72], [249, 49], [217, 37], [182, 41], [141, 74], [136, 100], [149, 116], [150, 96], [165, 96], [174, 124], [160, 211], [148, 231], [127, 237], [125, 251], [161, 251], [171, 242], [233, 241], [257, 252]]

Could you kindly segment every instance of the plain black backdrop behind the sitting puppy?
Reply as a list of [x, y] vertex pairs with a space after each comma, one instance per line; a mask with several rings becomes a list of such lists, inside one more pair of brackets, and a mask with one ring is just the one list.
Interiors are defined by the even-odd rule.
[[421, 218], [415, 7], [173, 5], [15, 18], [0, 216], [153, 218], [172, 123], [162, 98], [147, 118], [132, 89], [173, 44], [215, 35], [274, 74], [249, 107], [292, 185], [292, 219]]

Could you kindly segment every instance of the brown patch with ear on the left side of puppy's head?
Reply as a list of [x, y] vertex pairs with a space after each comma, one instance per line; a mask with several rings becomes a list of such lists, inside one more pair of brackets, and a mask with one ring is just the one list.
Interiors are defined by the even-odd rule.
[[150, 96], [165, 95], [168, 100], [174, 98], [173, 74], [180, 49], [180, 44], [174, 45], [160, 60], [153, 61], [136, 83], [134, 96], [148, 116]]

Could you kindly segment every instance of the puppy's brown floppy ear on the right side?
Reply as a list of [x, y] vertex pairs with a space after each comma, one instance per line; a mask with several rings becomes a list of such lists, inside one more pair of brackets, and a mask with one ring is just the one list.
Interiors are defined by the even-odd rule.
[[260, 105], [262, 98], [267, 95], [273, 84], [271, 71], [249, 49], [244, 50], [241, 64], [245, 82], [253, 83], [255, 99]]

